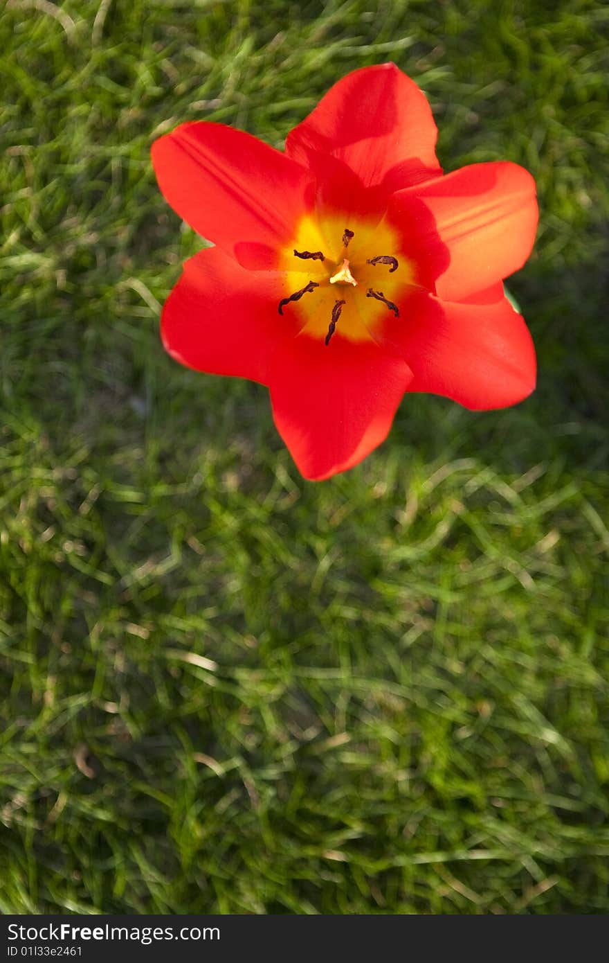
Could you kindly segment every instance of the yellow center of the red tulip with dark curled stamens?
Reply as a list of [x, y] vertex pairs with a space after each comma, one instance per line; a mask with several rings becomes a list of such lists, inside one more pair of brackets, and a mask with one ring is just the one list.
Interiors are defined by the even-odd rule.
[[399, 324], [397, 302], [415, 283], [387, 221], [348, 218], [345, 225], [343, 216], [303, 218], [278, 269], [284, 274], [279, 314], [327, 346], [336, 337], [373, 341], [381, 324]]

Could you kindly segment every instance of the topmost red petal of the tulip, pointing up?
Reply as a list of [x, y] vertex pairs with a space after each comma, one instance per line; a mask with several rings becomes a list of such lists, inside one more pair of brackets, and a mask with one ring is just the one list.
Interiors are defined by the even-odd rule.
[[385, 195], [442, 173], [438, 131], [427, 99], [394, 64], [348, 73], [288, 135], [286, 153], [300, 164], [315, 155], [343, 161], [363, 187]]

